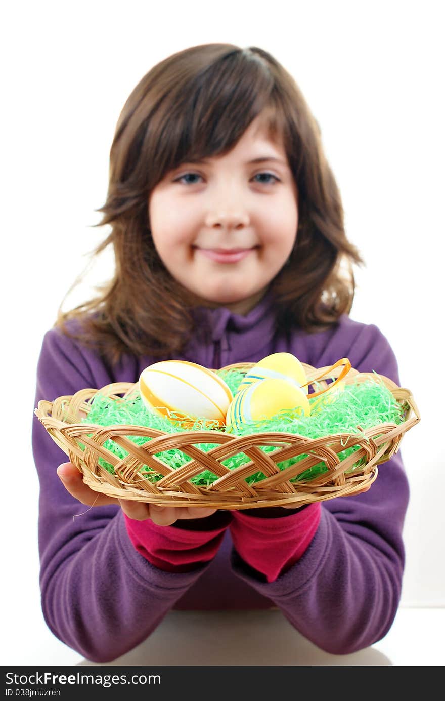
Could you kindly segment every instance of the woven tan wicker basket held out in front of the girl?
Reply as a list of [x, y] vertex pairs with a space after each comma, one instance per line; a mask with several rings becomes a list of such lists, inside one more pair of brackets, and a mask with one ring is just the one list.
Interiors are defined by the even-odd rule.
[[[254, 363], [239, 363], [222, 368], [238, 369], [247, 372]], [[332, 367], [315, 369], [302, 364], [308, 383], [317, 379], [317, 388], [326, 388], [323, 377], [338, 377], [341, 368], [332, 371]], [[144, 426], [97, 426], [80, 423], [88, 416], [91, 401], [97, 393], [112, 399], [130, 397], [138, 389], [138, 384], [113, 383], [101, 389], [84, 389], [73, 396], [58, 397], [53, 402], [42, 400], [34, 413], [43, 423], [55, 443], [69, 456], [83, 473], [83, 481], [94, 491], [116, 498], [133, 499], [170, 506], [204, 506], [219, 509], [246, 509], [264, 506], [295, 504], [301, 506], [313, 501], [325, 501], [336, 496], [348, 496], [364, 491], [376, 479], [377, 465], [388, 461], [399, 449], [402, 436], [409, 428], [420, 421], [416, 403], [411, 392], [399, 388], [387, 377], [379, 376], [390, 390], [395, 400], [404, 409], [404, 422], [380, 423], [378, 426], [360, 429], [357, 433], [338, 433], [324, 436], [317, 440], [290, 433], [255, 433], [234, 436], [217, 430], [190, 430], [179, 433], [163, 433]], [[376, 373], [359, 373], [350, 369], [344, 379], [345, 384], [376, 378]], [[88, 434], [90, 437], [88, 437]], [[137, 446], [128, 436], [144, 436], [147, 442]], [[120, 459], [108, 449], [104, 442], [113, 440], [128, 455]], [[347, 458], [338, 457], [348, 447], [358, 446]], [[79, 447], [84, 445], [84, 449]], [[196, 444], [219, 444], [208, 452], [200, 450]], [[274, 446], [275, 451], [265, 453], [259, 446]], [[173, 469], [156, 457], [164, 450], [177, 448], [191, 459], [182, 467]], [[238, 468], [229, 469], [223, 465], [227, 458], [244, 452], [250, 458]], [[277, 463], [305, 454], [306, 458], [280, 469]], [[99, 464], [104, 458], [114, 466], [115, 474]], [[364, 464], [354, 471], [348, 469], [364, 458]], [[308, 468], [324, 461], [327, 472], [310, 480], [290, 480]], [[158, 482], [151, 482], [141, 474], [149, 468], [161, 477]], [[191, 478], [203, 470], [210, 470], [217, 475], [212, 484], [197, 486]], [[246, 478], [256, 472], [263, 472], [265, 479], [254, 484], [247, 484]], [[151, 472], [152, 474], [152, 472]]]

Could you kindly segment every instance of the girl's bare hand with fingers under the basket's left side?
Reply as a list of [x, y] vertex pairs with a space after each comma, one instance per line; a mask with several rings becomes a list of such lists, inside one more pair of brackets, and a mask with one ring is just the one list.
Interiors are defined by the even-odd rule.
[[104, 506], [117, 504], [125, 515], [136, 521], [151, 519], [158, 526], [171, 526], [178, 519], [199, 519], [211, 516], [217, 509], [189, 506], [158, 506], [129, 499], [116, 499], [94, 491], [82, 479], [80, 470], [73, 463], [62, 463], [57, 468], [57, 475], [69, 494], [87, 506]]

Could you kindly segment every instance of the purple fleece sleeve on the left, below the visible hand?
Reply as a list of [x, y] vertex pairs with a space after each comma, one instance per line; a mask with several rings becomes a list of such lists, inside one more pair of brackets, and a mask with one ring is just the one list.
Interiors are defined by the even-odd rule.
[[[53, 329], [43, 339], [34, 406], [103, 386], [102, 372]], [[120, 508], [88, 509], [64, 489], [56, 468], [69, 458], [36, 416], [32, 447], [40, 482], [43, 616], [55, 636], [81, 655], [114, 660], [153, 631], [208, 565], [174, 574], [151, 565], [130, 542]]]

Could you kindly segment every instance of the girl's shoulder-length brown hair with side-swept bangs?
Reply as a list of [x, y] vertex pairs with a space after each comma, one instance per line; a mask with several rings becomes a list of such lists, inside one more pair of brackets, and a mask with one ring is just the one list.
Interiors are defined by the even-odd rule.
[[[226, 154], [260, 113], [271, 138], [282, 138], [299, 198], [294, 250], [271, 283], [278, 325], [313, 332], [349, 313], [352, 263], [363, 261], [345, 236], [317, 121], [292, 76], [267, 51], [209, 43], [156, 64], [125, 102], [111, 144], [107, 201], [96, 210], [104, 216], [95, 226], [110, 224], [111, 233], [93, 251], [113, 245], [114, 278], [71, 311], [62, 312], [62, 302], [55, 326], [93, 343], [111, 363], [123, 353], [165, 356], [184, 348], [193, 318], [184, 288], [153, 245], [149, 195], [181, 163]], [[65, 327], [69, 319], [81, 321], [81, 334]]]

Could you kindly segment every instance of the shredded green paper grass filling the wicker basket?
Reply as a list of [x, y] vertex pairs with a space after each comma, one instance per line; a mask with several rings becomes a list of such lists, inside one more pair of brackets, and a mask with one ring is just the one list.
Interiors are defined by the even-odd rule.
[[[244, 377], [244, 374], [238, 370], [225, 370], [217, 374], [224, 379], [233, 394], [235, 394]], [[317, 389], [315, 383], [314, 388], [315, 390]], [[321, 396], [322, 399], [318, 404], [317, 410], [311, 416], [301, 416], [297, 411], [292, 410], [280, 411], [272, 418], [264, 421], [245, 422], [240, 428], [221, 428], [217, 421], [198, 418], [193, 426], [184, 429], [182, 428], [181, 421], [179, 421], [179, 416], [175, 414], [170, 414], [171, 420], [168, 420], [167, 418], [163, 418], [163, 416], [158, 416], [157, 414], [149, 412], [137, 392], [132, 393], [132, 395], [126, 399], [120, 400], [113, 400], [109, 397], [97, 394], [91, 402], [88, 416], [82, 419], [82, 423], [90, 423], [97, 426], [111, 426], [125, 423], [132, 426], [147, 426], [163, 431], [164, 433], [178, 433], [181, 430], [218, 430], [231, 433], [231, 435], [248, 435], [251, 433], [263, 432], [292, 433], [315, 439], [335, 433], [357, 434], [360, 433], [357, 426], [360, 426], [364, 431], [367, 428], [377, 426], [379, 423], [389, 422], [398, 425], [404, 421], [403, 407], [395, 400], [390, 390], [388, 390], [377, 374], [375, 378], [362, 383], [346, 385], [343, 390], [338, 391], [333, 400], [330, 400], [329, 393]], [[311, 400], [310, 403], [312, 403]], [[147, 440], [151, 440], [144, 436], [131, 435], [128, 435], [128, 439], [139, 446], [146, 444]], [[79, 445], [81, 449], [84, 448], [83, 444], [80, 442]], [[197, 443], [195, 445], [203, 452], [208, 452], [218, 447], [220, 444]], [[107, 440], [104, 443], [104, 447], [121, 459], [128, 454], [127, 451], [112, 440]], [[262, 446], [260, 449], [265, 453], [271, 453], [277, 450], [275, 446]], [[339, 458], [343, 459], [358, 449], [358, 446], [349, 448], [345, 446], [345, 450], [341, 451]], [[162, 451], [157, 453], [156, 457], [170, 468], [179, 468], [185, 463], [188, 463], [191, 459], [190, 456], [179, 449]], [[278, 467], [284, 470], [289, 465], [294, 465], [294, 463], [306, 457], [307, 454], [302, 454], [290, 458], [287, 461], [278, 463]], [[250, 458], [244, 453], [238, 453], [222, 461], [222, 464], [233, 470], [249, 461]], [[111, 472], [111, 474], [114, 474], [114, 468], [111, 463], [105, 461], [104, 458], [99, 458], [99, 463], [102, 467]], [[349, 468], [348, 472], [360, 469], [363, 464], [364, 458], [358, 458], [357, 462]], [[298, 482], [301, 480], [310, 481], [310, 479], [317, 477], [317, 475], [323, 472], [327, 472], [327, 470], [328, 468], [324, 462], [320, 461], [317, 465], [302, 472], [301, 475], [291, 479], [291, 482]], [[144, 475], [146, 479], [150, 479], [151, 482], [158, 482], [158, 480], [161, 479], [161, 476], [153, 472], [148, 466], [142, 468], [141, 474]], [[264, 478], [265, 475], [263, 475], [262, 472], [256, 472], [254, 475], [247, 477], [246, 482], [248, 484], [253, 484], [255, 482], [260, 482], [261, 479]], [[214, 475], [214, 473], [209, 470], [204, 470], [200, 472], [199, 475], [196, 475], [196, 477], [192, 477], [191, 482], [199, 486], [208, 486], [212, 484], [215, 479], [217, 479], [217, 475]]]

